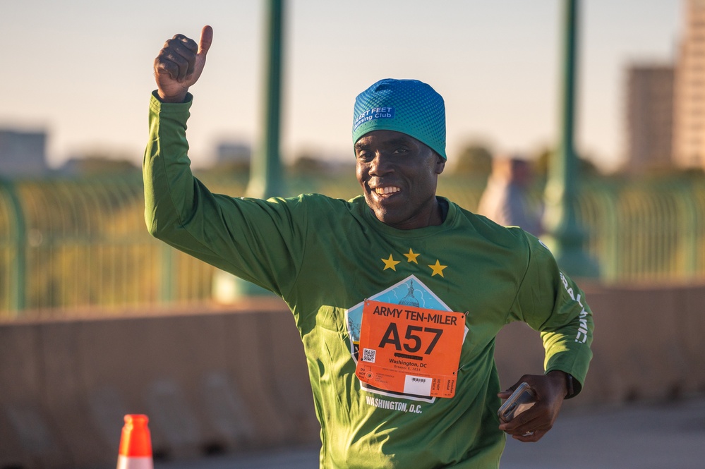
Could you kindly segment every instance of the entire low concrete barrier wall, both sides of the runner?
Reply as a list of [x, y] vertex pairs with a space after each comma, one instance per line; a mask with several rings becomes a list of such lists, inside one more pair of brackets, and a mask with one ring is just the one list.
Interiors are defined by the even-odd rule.
[[[594, 358], [567, 406], [705, 393], [705, 286], [584, 289]], [[543, 370], [524, 324], [502, 330], [495, 356], [502, 386]], [[318, 441], [282, 303], [0, 325], [0, 469], [113, 468], [127, 413], [150, 416], [156, 458]]]

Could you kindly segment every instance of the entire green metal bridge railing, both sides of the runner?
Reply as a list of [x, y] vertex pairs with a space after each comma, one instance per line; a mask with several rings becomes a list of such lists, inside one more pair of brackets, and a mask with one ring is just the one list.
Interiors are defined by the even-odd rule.
[[[233, 195], [246, 186], [241, 177], [203, 179]], [[484, 183], [444, 175], [439, 193], [475, 209]], [[289, 188], [358, 193], [352, 177], [294, 178]], [[215, 269], [152, 238], [143, 212], [136, 173], [0, 181], [0, 319], [210, 300]], [[601, 281], [705, 279], [705, 179], [590, 181], [578, 212]]]

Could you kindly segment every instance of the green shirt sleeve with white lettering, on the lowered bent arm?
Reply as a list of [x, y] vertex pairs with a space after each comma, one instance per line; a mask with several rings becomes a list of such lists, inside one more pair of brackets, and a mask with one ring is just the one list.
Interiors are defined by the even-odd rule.
[[520, 320], [541, 332], [546, 372], [572, 375], [575, 394], [585, 382], [592, 358], [593, 316], [585, 294], [560, 272], [553, 255], [529, 234], [529, 265], [512, 307], [510, 320]]

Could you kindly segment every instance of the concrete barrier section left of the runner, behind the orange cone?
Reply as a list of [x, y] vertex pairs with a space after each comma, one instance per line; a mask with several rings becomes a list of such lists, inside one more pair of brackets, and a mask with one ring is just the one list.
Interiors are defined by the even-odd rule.
[[301, 338], [240, 312], [0, 326], [0, 468], [114, 468], [123, 416], [155, 458], [318, 441]]

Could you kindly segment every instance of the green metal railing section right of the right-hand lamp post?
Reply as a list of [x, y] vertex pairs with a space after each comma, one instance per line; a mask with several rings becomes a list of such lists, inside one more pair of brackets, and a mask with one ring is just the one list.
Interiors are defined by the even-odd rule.
[[705, 181], [594, 181], [579, 213], [602, 281], [705, 279]]

